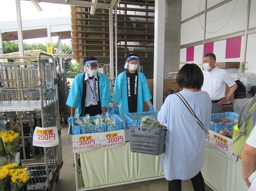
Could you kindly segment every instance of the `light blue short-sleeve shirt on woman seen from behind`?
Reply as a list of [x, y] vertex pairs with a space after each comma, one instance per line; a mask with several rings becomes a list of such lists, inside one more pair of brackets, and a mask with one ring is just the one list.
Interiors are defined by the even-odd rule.
[[177, 95], [171, 94], [165, 99], [157, 119], [167, 127], [165, 153], [160, 165], [164, 168], [167, 180], [187, 180], [201, 170], [204, 164], [205, 136], [211, 121], [212, 103], [209, 94], [186, 90], [180, 94], [204, 124], [205, 131]]

